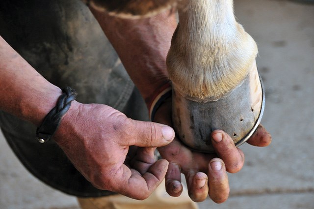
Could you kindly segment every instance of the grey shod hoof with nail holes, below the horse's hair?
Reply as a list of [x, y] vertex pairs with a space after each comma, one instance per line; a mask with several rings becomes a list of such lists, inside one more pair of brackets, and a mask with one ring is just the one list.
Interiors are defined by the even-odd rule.
[[236, 146], [248, 140], [260, 124], [265, 105], [256, 63], [246, 78], [220, 98], [197, 99], [173, 86], [172, 120], [177, 135], [190, 149], [214, 152], [211, 132], [221, 129]]

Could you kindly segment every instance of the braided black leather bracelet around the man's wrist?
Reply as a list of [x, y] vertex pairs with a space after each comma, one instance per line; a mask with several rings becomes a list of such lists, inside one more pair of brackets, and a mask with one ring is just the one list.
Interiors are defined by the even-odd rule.
[[45, 143], [52, 138], [62, 116], [70, 109], [71, 102], [77, 97], [77, 92], [70, 87], [64, 88], [62, 92], [56, 106], [47, 114], [43, 123], [36, 130], [36, 138], [40, 143]]

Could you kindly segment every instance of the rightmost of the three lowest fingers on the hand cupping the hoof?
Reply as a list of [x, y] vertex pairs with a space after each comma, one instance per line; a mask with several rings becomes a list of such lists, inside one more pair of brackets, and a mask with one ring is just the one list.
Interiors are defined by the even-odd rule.
[[209, 162], [209, 197], [215, 203], [223, 203], [229, 197], [229, 182], [226, 167], [219, 158]]

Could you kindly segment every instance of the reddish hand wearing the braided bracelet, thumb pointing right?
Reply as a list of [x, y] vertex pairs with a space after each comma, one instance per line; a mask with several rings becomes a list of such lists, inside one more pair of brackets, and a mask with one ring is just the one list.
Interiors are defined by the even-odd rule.
[[[153, 147], [168, 145], [173, 138], [169, 126], [132, 120], [106, 105], [76, 101], [53, 137], [95, 187], [139, 200], [156, 189], [168, 169], [167, 160], [155, 160]], [[139, 148], [129, 152], [133, 145]]]

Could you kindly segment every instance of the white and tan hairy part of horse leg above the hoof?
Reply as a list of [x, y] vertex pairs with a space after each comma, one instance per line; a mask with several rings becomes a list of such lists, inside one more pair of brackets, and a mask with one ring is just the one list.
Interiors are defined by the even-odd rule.
[[188, 96], [219, 98], [247, 76], [257, 45], [235, 21], [233, 0], [182, 4], [167, 56], [170, 79]]

